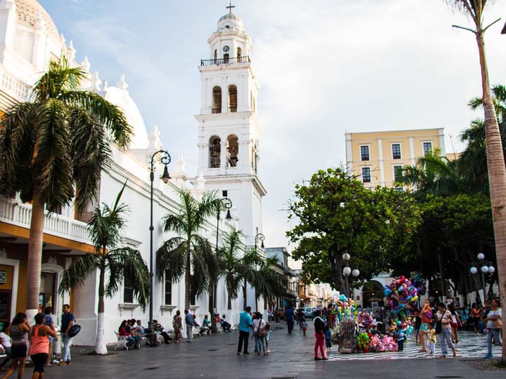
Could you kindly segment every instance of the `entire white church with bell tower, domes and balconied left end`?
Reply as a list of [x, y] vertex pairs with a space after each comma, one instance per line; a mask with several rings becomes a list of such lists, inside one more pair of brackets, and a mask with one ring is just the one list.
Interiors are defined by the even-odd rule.
[[[203, 59], [199, 66], [201, 106], [195, 116], [198, 128], [196, 175], [188, 175], [183, 156], [172, 151], [173, 160], [168, 166], [172, 179], [167, 184], [158, 179], [163, 166], [157, 165], [153, 202], [154, 252], [164, 240], [173, 236], [162, 231], [160, 220], [167, 213], [179, 213], [177, 191], [183, 187], [190, 188], [196, 198], [204, 191], [218, 191], [219, 196], [226, 191], [232, 201], [232, 220], [226, 220], [222, 213], [218, 225], [216, 217], [210, 218], [200, 232], [213, 245], [217, 226], [219, 244], [223, 232], [232, 227], [242, 230], [244, 250], [254, 245], [255, 236], [262, 232], [262, 197], [266, 195], [266, 189], [259, 179], [262, 129], [256, 112], [259, 82], [250, 58], [251, 39], [244, 31], [242, 21], [230, 11], [220, 18], [208, 44], [209, 59]], [[128, 180], [121, 199], [130, 207], [123, 244], [137, 248], [149, 266], [149, 159], [162, 148], [160, 134], [164, 127], [153, 126], [148, 133], [142, 112], [132, 99], [124, 76], [118, 74], [119, 80], [111, 85], [107, 80], [101, 80], [97, 71], [90, 71], [92, 65], [88, 58], [78, 63], [75, 54], [72, 42], [66, 43], [50, 15], [35, 0], [0, 1], [0, 115], [14, 104], [28, 100], [29, 87], [48, 68], [52, 59], [65, 56], [73, 66], [86, 70], [87, 80], [81, 83], [82, 89], [96, 92], [121, 107], [135, 134], [129, 149], [120, 151], [112, 147], [113, 163], [108, 172], [102, 173], [98, 201], [112, 203]], [[90, 207], [90, 212], [92, 209]], [[25, 309], [30, 215], [30, 204], [22, 203], [17, 197], [0, 197], [0, 271], [6, 273], [4, 283], [0, 281], [0, 322], [11, 320], [16, 312]], [[77, 215], [71, 205], [57, 214], [48, 214], [44, 230], [39, 306], [53, 306], [59, 319], [61, 306], [71, 305], [77, 322], [86, 330], [76, 336], [76, 345], [95, 343], [98, 277], [88, 279], [85, 285], [63, 297], [58, 294], [58, 281], [73, 257], [86, 254], [93, 248], [86, 229], [89, 217], [90, 213]], [[260, 252], [264, 254], [262, 249]], [[184, 280], [155, 280], [154, 319], [166, 327], [172, 326], [176, 310], [184, 310], [184, 293]], [[248, 305], [254, 308], [251, 288], [248, 288], [247, 298]], [[227, 311], [226, 299], [225, 285], [221, 280], [216, 310], [227, 313], [227, 318], [237, 323], [242, 298], [232, 302], [231, 311]], [[200, 322], [209, 313], [207, 294], [195, 299], [194, 303], [191, 308]], [[263, 300], [258, 304], [263, 307]], [[115, 341], [114, 330], [121, 320], [127, 318], [141, 319], [147, 324], [148, 310], [143, 311], [138, 306], [132, 288], [124, 283], [112, 298], [106, 298], [107, 343]]]

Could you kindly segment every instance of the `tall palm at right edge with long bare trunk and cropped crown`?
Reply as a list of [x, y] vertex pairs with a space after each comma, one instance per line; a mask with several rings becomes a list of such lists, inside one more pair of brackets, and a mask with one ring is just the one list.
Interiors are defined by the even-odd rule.
[[[446, 0], [448, 4], [462, 11], [471, 18], [475, 29], [463, 28], [471, 31], [478, 44], [480, 57], [482, 101], [485, 120], [485, 138], [487, 143], [487, 167], [490, 183], [490, 200], [492, 202], [492, 217], [494, 220], [495, 251], [497, 256], [497, 275], [501, 293], [506, 292], [506, 166], [504, 164], [503, 146], [499, 133], [499, 125], [494, 109], [490, 79], [488, 75], [485, 54], [485, 31], [492, 24], [483, 27], [483, 11], [487, 0]], [[460, 27], [462, 28], [462, 27]], [[504, 295], [502, 295], [504, 301]], [[506, 323], [502, 326], [502, 335], [506, 335]], [[506, 363], [506, 344], [502, 347], [502, 362]]]

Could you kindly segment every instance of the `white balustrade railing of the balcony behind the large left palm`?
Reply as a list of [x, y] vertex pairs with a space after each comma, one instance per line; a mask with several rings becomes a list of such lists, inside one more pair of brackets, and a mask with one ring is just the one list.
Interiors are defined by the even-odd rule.
[[[31, 205], [19, 201], [0, 197], [0, 221], [30, 228]], [[44, 233], [71, 239], [77, 242], [92, 244], [87, 230], [87, 224], [70, 219], [56, 213], [46, 213], [44, 220]]]

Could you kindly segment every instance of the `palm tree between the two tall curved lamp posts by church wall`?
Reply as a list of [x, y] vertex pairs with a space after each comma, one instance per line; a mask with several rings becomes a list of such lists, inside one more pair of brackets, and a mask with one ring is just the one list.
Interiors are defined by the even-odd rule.
[[[205, 193], [195, 200], [188, 189], [179, 191], [181, 213], [163, 218], [163, 230], [179, 236], [168, 239], [156, 251], [156, 271], [159, 281], [165, 277], [178, 281], [185, 276], [185, 309], [190, 309], [192, 294], [199, 296], [216, 282], [220, 268], [218, 259], [207, 239], [198, 235], [204, 222], [217, 214], [223, 204], [215, 192]], [[192, 274], [193, 271], [193, 274]]]

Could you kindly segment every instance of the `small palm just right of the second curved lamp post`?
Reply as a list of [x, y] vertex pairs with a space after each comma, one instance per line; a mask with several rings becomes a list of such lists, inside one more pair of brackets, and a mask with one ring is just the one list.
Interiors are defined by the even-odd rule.
[[230, 233], [223, 233], [223, 246], [219, 250], [220, 270], [225, 277], [227, 287], [227, 309], [232, 310], [232, 300], [237, 299], [241, 287], [241, 260], [238, 252], [241, 247], [241, 237], [244, 234], [235, 228]]

